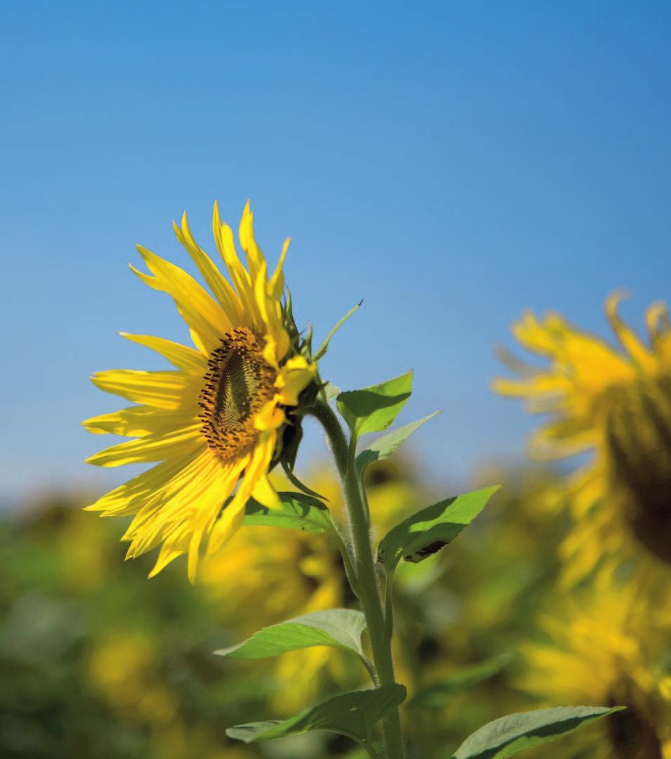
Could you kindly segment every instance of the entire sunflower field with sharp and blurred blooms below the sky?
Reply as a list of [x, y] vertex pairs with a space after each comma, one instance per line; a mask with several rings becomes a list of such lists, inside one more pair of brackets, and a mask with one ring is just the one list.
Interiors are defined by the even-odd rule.
[[[134, 269], [194, 347], [122, 333], [174, 368], [92, 378], [133, 405], [83, 423], [130, 438], [90, 463], [150, 468], [2, 522], [2, 755], [482, 759], [561, 738], [555, 757], [671, 759], [666, 306], [645, 340], [611, 295], [610, 343], [525, 313], [513, 332], [540, 361], [500, 351], [493, 391], [545, 414], [532, 458], [440, 500], [401, 449], [436, 414], [358, 445], [411, 373], [348, 392], [320, 376], [356, 307], [313, 349], [288, 243], [269, 275], [248, 203], [247, 266], [216, 205], [213, 228], [230, 279], [175, 225], [212, 294], [143, 247], [153, 276]], [[301, 479], [309, 417], [334, 463]]]

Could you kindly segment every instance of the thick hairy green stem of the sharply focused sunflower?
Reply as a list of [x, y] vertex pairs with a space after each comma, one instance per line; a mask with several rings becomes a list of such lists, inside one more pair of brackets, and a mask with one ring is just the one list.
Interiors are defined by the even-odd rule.
[[[370, 543], [370, 524], [361, 493], [355, 465], [356, 439], [348, 443], [339, 420], [326, 403], [317, 402], [311, 409], [320, 420], [336, 458], [342, 478], [349, 515], [351, 538], [354, 547], [354, 572], [357, 577], [358, 596], [366, 617], [370, 647], [379, 685], [394, 685], [392, 641], [387, 626], [377, 584], [373, 548]], [[399, 710], [394, 709], [383, 720], [383, 739], [386, 759], [404, 759], [405, 748]]]

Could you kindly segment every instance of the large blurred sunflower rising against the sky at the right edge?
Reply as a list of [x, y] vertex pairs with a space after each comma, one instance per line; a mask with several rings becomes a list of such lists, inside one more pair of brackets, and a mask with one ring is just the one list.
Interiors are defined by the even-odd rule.
[[[496, 379], [496, 392], [526, 398], [550, 414], [531, 437], [536, 458], [593, 452], [565, 480], [578, 529], [562, 546], [572, 580], [643, 555], [671, 562], [671, 324], [664, 304], [647, 309], [649, 344], [619, 317], [622, 294], [606, 300], [619, 348], [549, 313], [527, 312], [518, 341], [550, 361], [543, 369], [502, 354], [520, 377]], [[641, 552], [641, 549], [643, 551]]]

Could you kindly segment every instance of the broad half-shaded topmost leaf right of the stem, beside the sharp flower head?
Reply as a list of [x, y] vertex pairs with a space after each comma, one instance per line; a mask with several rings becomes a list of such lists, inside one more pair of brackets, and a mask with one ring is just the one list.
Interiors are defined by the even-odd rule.
[[412, 372], [380, 385], [341, 392], [338, 411], [356, 436], [382, 432], [399, 415], [412, 392]]

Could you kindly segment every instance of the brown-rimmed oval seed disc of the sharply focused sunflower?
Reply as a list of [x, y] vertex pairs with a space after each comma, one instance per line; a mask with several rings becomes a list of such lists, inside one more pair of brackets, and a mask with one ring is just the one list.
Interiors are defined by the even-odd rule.
[[247, 327], [222, 337], [209, 358], [200, 392], [203, 436], [222, 461], [254, 447], [254, 416], [275, 392], [275, 370], [263, 358], [263, 339]]

